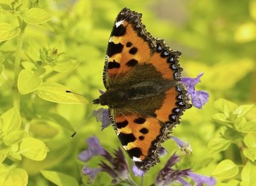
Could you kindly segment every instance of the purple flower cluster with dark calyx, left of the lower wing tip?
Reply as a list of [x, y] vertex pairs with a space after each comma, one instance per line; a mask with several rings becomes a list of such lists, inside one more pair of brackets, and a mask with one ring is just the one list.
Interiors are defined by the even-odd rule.
[[82, 151], [78, 155], [78, 158], [84, 162], [87, 162], [94, 156], [101, 155], [108, 160], [110, 165], [107, 165], [105, 162], [101, 161], [100, 168], [87, 168], [87, 165], [83, 167], [84, 175], [89, 175], [89, 183], [93, 181], [98, 172], [106, 172], [111, 177], [113, 177], [112, 183], [118, 183], [122, 180], [132, 181], [130, 177], [129, 167], [124, 157], [123, 151], [118, 148], [115, 150], [115, 157], [111, 156], [107, 150], [105, 150], [99, 143], [99, 139], [96, 136], [88, 138], [87, 143], [89, 148], [87, 150]]

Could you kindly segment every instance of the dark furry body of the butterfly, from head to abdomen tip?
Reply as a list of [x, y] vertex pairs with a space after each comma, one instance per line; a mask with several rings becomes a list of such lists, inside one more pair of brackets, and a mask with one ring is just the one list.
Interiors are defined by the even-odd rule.
[[163, 94], [167, 89], [175, 86], [176, 80], [162, 78], [141, 80], [136, 83], [122, 84], [109, 88], [105, 94], [93, 100], [94, 104], [108, 105], [109, 107], [124, 107], [129, 102], [150, 99]]

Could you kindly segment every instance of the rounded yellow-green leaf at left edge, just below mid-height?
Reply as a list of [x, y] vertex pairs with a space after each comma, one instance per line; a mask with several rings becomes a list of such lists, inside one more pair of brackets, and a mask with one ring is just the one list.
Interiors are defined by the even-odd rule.
[[7, 134], [20, 128], [20, 113], [16, 108], [11, 108], [0, 117], [0, 131]]

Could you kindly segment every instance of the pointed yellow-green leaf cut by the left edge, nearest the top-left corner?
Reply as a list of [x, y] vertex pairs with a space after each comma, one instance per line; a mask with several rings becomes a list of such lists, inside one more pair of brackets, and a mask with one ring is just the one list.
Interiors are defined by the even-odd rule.
[[19, 33], [19, 27], [13, 27], [9, 23], [0, 22], [0, 41], [12, 39]]

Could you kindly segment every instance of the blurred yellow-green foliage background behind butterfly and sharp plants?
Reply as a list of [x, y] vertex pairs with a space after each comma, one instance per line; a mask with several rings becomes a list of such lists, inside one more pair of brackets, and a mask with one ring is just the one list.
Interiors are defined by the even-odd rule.
[[[238, 105], [256, 102], [256, 1], [40, 0], [39, 7], [52, 15], [53, 18], [47, 23], [54, 31], [29, 24], [23, 39], [21, 62], [29, 61], [28, 37], [33, 38], [40, 47], [62, 40], [63, 55], [81, 60], [81, 63], [76, 69], [67, 72], [46, 71], [41, 75], [43, 82], [57, 82], [69, 90], [92, 97], [100, 95], [98, 89], [105, 90], [102, 82], [103, 63], [117, 14], [123, 7], [142, 13], [142, 23], [151, 35], [164, 39], [172, 49], [182, 52], [180, 64], [184, 69], [184, 77], [195, 78], [199, 72], [204, 72], [202, 82], [196, 88], [210, 94], [209, 103], [202, 110], [193, 107], [186, 111], [181, 124], [173, 131], [173, 136], [189, 141], [193, 148], [190, 156], [182, 156], [180, 168], [193, 168], [196, 173], [210, 176], [222, 159], [242, 163], [236, 146], [231, 145], [222, 153], [211, 154], [207, 143], [218, 136], [220, 128], [220, 124], [211, 118], [217, 113], [213, 107], [214, 100], [225, 98]], [[2, 13], [0, 22], [19, 26], [15, 16]], [[17, 37], [8, 40], [0, 48], [1, 56], [11, 53], [2, 61], [4, 70], [0, 77], [0, 114], [13, 106], [16, 44]], [[77, 159], [77, 155], [87, 148], [85, 140], [95, 134], [109, 152], [120, 146], [114, 130], [109, 127], [101, 131], [101, 123], [97, 123], [92, 116], [76, 136], [70, 139], [95, 106], [92, 100], [88, 101], [89, 104], [53, 103], [38, 97], [35, 92], [20, 96], [20, 130], [42, 140], [50, 150], [44, 160], [22, 157], [22, 160], [16, 162], [17, 167], [26, 170], [28, 185], [54, 185], [45, 179], [41, 170], [62, 172], [86, 185], [87, 177], [81, 179], [84, 163]], [[49, 119], [51, 114], [61, 117], [53, 121]], [[255, 119], [255, 115], [254, 108], [247, 117]], [[71, 129], [64, 127], [62, 122], [70, 125]], [[180, 153], [171, 140], [164, 142], [163, 147], [169, 150], [170, 155], [161, 158], [161, 162], [150, 169], [145, 175], [145, 185], [154, 182], [157, 172], [174, 151]], [[131, 165], [131, 161], [128, 161]], [[14, 162], [12, 158], [6, 158], [3, 163], [12, 165]], [[98, 163], [100, 158], [94, 158], [88, 165], [96, 168]], [[133, 176], [133, 179], [139, 183], [139, 177]], [[100, 173], [93, 184], [108, 185], [110, 182], [107, 174]], [[217, 185], [223, 184], [219, 181]]]

